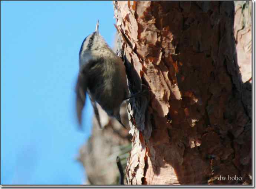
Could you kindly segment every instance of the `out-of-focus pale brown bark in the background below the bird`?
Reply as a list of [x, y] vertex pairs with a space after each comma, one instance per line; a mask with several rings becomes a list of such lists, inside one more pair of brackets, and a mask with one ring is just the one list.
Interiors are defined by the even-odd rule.
[[[101, 118], [100, 129], [96, 118], [93, 118], [92, 135], [81, 147], [78, 160], [86, 171], [86, 185], [118, 184], [120, 173], [116, 165], [116, 156], [129, 150], [130, 135], [114, 118], [98, 106]], [[128, 127], [125, 107], [121, 109], [123, 123]]]

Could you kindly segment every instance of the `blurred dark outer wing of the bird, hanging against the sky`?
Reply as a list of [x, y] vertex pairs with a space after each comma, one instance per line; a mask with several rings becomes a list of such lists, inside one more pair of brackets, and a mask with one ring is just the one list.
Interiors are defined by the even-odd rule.
[[82, 123], [82, 110], [85, 106], [86, 99], [86, 91], [87, 91], [87, 80], [85, 75], [79, 73], [78, 80], [76, 83], [76, 113], [78, 117], [79, 125]]

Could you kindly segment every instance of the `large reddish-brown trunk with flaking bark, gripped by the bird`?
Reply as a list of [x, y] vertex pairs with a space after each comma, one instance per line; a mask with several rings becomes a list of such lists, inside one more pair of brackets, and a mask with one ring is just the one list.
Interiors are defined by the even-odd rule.
[[[128, 184], [250, 184], [251, 85], [232, 1], [115, 1], [131, 92]], [[226, 180], [219, 180], [219, 176]], [[242, 180], [228, 180], [228, 176]]]

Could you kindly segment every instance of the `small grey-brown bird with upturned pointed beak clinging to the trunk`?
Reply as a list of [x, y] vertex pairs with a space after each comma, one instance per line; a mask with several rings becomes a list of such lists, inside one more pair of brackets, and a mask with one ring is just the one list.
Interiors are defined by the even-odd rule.
[[95, 31], [83, 40], [79, 51], [76, 111], [80, 125], [87, 93], [100, 128], [101, 122], [96, 102], [110, 117], [115, 117], [124, 126], [120, 118], [120, 106], [125, 99], [131, 98], [125, 66], [122, 59], [111, 50], [99, 34], [99, 20]]

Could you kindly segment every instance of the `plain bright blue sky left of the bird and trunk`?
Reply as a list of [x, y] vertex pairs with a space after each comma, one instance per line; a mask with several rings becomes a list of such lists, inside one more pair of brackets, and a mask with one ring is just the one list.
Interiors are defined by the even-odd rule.
[[95, 30], [112, 46], [112, 1], [1, 1], [1, 184], [82, 184], [91, 133], [75, 114], [78, 53]]

